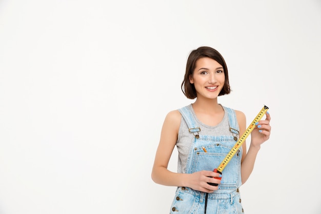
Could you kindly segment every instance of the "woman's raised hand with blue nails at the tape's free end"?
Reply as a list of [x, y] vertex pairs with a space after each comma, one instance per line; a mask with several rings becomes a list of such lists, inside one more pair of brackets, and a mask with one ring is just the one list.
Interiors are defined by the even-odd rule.
[[271, 126], [270, 126], [271, 115], [266, 112], [266, 119], [258, 121], [256, 127], [251, 132], [251, 144], [253, 146], [260, 146], [270, 138]]

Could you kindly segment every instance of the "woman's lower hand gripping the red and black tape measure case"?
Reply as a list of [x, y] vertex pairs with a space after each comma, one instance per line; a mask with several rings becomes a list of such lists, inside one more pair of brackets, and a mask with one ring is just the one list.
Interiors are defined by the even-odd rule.
[[[198, 171], [192, 174], [189, 174], [189, 181], [187, 187], [190, 187], [194, 190], [212, 193], [218, 189], [218, 184], [220, 184], [221, 174], [213, 171]], [[217, 178], [217, 179], [216, 179]], [[215, 183], [217, 186], [212, 186], [208, 183]]]

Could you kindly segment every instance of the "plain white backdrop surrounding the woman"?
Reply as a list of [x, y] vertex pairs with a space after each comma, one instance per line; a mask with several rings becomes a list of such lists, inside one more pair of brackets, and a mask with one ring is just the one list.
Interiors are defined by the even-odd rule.
[[246, 213], [320, 214], [320, 40], [319, 0], [0, 1], [0, 213], [168, 213], [160, 129], [207, 45], [229, 68], [219, 103], [248, 124], [270, 108]]

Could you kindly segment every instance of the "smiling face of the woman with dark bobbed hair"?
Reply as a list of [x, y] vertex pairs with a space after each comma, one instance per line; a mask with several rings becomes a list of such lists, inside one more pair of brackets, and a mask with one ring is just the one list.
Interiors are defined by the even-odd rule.
[[196, 61], [196, 67], [190, 76], [197, 98], [216, 99], [225, 82], [223, 66], [209, 57]]

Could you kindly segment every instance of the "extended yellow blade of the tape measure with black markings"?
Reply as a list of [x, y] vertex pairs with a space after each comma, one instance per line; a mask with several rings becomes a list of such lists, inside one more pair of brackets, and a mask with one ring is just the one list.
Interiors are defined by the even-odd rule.
[[236, 142], [236, 144], [233, 146], [233, 148], [229, 151], [229, 153], [226, 155], [225, 159], [220, 163], [219, 167], [217, 168], [217, 171], [222, 172], [223, 169], [226, 167], [226, 165], [229, 163], [229, 161], [232, 159], [235, 152], [242, 146], [245, 139], [248, 137], [248, 135], [253, 131], [255, 128], [255, 123], [258, 122], [264, 114], [268, 111], [269, 107], [264, 106], [260, 112], [256, 115], [255, 119], [252, 121], [252, 123], [249, 125], [249, 127], [246, 129], [245, 133], [242, 135], [242, 137], [239, 138], [239, 140]]

